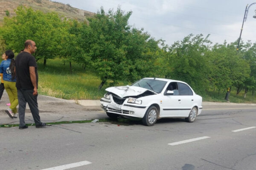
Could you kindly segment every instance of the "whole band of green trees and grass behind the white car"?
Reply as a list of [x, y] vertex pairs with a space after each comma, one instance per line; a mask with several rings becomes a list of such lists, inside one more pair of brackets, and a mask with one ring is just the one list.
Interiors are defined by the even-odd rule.
[[88, 22], [20, 6], [0, 27], [0, 51], [23, 49], [34, 40], [41, 94], [99, 99], [104, 89], [143, 77], [187, 82], [204, 101], [255, 102], [256, 43], [212, 44], [189, 34], [172, 45], [128, 24], [132, 12], [101, 8]]

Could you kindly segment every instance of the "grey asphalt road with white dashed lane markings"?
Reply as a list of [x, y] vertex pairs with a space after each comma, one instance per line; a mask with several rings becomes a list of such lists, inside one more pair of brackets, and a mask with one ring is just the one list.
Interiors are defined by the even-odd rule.
[[0, 128], [0, 169], [255, 170], [256, 108], [227, 107], [203, 109], [194, 123], [161, 119], [153, 127], [128, 121]]

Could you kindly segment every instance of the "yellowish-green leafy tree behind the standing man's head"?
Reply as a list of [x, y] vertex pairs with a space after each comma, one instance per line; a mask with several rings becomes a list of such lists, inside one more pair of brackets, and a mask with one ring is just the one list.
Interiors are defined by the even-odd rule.
[[37, 45], [36, 59], [53, 59], [58, 55], [58, 44], [61, 41], [62, 22], [56, 13], [34, 11], [32, 8], [19, 6], [15, 17], [5, 17], [1, 34], [7, 48], [19, 52], [24, 42], [34, 40]]

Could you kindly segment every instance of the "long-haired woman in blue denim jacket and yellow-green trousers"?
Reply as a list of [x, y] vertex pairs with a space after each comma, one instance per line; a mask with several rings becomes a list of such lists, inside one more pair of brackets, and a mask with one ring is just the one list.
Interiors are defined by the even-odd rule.
[[17, 113], [16, 107], [18, 105], [14, 54], [11, 50], [7, 50], [2, 55], [2, 58], [6, 60], [3, 60], [0, 64], [0, 73], [3, 73], [4, 88], [6, 89], [11, 103], [6, 113], [13, 119], [17, 118], [15, 114]]

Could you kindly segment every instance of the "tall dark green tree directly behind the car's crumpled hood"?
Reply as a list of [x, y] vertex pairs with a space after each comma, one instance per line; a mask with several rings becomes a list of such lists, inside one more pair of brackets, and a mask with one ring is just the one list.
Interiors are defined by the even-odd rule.
[[106, 83], [107, 79], [116, 82], [128, 72], [122, 40], [128, 34], [130, 26], [128, 19], [131, 11], [126, 13], [120, 8], [114, 13], [109, 10], [105, 14], [103, 8], [91, 18], [90, 28], [92, 33], [92, 44], [90, 47], [90, 57], [92, 67], [95, 69], [102, 80], [99, 89]]

